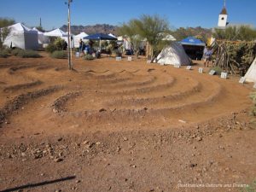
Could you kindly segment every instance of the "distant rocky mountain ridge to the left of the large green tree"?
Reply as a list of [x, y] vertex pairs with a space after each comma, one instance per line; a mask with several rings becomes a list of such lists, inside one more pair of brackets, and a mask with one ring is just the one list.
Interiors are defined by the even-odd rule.
[[[116, 35], [118, 26], [111, 26], [108, 24], [96, 24], [95, 26], [70, 26], [73, 34], [79, 34], [80, 32], [86, 32], [87, 34], [93, 33], [113, 33]], [[67, 32], [67, 25], [61, 26], [61, 30]]]

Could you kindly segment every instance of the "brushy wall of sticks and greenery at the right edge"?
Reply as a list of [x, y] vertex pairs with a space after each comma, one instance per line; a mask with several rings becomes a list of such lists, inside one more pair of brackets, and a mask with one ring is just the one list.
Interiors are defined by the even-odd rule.
[[213, 66], [243, 76], [256, 55], [256, 42], [216, 41], [213, 45]]

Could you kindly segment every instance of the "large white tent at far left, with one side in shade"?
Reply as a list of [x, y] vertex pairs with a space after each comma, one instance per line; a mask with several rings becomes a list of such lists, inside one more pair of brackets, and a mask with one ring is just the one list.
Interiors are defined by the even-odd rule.
[[21, 23], [8, 26], [9, 35], [3, 44], [7, 47], [17, 47], [20, 49], [38, 49], [38, 32]]

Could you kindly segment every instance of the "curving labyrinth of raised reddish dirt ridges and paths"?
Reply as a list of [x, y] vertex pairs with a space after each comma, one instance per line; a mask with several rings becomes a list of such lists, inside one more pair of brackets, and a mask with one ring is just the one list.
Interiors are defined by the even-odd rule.
[[145, 61], [0, 61], [6, 137], [174, 128], [247, 108], [232, 80]]

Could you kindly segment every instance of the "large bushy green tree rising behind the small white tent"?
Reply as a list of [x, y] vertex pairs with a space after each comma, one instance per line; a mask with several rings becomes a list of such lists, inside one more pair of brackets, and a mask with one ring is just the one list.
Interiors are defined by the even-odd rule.
[[154, 61], [165, 46], [166, 42], [162, 41], [164, 37], [161, 34], [169, 31], [168, 21], [160, 18], [159, 15], [142, 15], [139, 19], [132, 19], [119, 27], [120, 34], [131, 38], [131, 43], [135, 48], [138, 42], [142, 39], [147, 39], [148, 44], [152, 48], [152, 53], [150, 54], [151, 61]]

